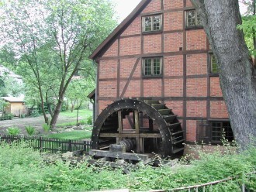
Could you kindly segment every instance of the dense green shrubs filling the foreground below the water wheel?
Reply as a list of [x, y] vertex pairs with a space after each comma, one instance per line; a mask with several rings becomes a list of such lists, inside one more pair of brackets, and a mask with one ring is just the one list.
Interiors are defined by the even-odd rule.
[[[248, 189], [256, 189], [255, 173], [246, 179], [246, 173], [255, 170], [256, 149], [237, 154], [219, 149], [200, 153], [199, 159], [181, 161], [175, 167], [144, 166], [124, 174], [123, 169], [96, 167], [88, 163], [72, 165], [57, 159], [46, 163], [43, 153], [33, 151], [26, 143], [2, 143], [0, 146], [0, 191], [88, 191], [130, 189], [168, 190], [234, 177], [226, 183], [213, 186], [213, 191], [239, 191], [245, 182]], [[206, 189], [207, 190], [207, 189]]]

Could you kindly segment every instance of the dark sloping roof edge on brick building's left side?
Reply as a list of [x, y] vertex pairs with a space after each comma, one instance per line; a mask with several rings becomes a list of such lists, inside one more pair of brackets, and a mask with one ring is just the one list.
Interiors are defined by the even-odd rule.
[[116, 29], [112, 31], [112, 33], [110, 33], [110, 35], [102, 42], [102, 44], [98, 46], [98, 48], [92, 53], [92, 55], [90, 55], [89, 58], [95, 60], [95, 58], [98, 57], [100, 53], [106, 50], [107, 46], [109, 46], [109, 44], [112, 43], [120, 33], [123, 33], [127, 26], [133, 22], [137, 15], [139, 15], [140, 12], [142, 12], [150, 2], [151, 0], [141, 0], [139, 5], [133, 9], [133, 12], [131, 12], [130, 15], [128, 15], [126, 19], [124, 19], [123, 22], [121, 22], [119, 26], [117, 26]]

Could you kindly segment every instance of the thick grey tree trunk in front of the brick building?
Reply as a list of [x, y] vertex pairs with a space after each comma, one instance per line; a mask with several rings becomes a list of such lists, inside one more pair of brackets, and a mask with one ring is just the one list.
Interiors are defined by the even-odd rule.
[[[220, 67], [220, 86], [240, 149], [256, 138], [256, 77], [241, 23], [238, 0], [192, 0]], [[255, 143], [254, 143], [255, 144]]]

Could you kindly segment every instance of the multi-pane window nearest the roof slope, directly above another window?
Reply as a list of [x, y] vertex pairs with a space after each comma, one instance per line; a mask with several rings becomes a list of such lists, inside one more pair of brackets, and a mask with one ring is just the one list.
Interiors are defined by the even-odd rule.
[[162, 15], [148, 15], [142, 17], [143, 32], [157, 32], [162, 29]]

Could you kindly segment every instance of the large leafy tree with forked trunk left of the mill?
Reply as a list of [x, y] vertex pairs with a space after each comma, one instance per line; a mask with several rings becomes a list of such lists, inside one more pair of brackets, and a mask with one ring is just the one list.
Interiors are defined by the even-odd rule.
[[50, 122], [54, 127], [72, 77], [86, 69], [88, 55], [116, 26], [112, 5], [108, 0], [2, 2], [2, 42], [28, 70], [26, 77], [33, 77], [42, 109], [47, 91], [57, 92]]

